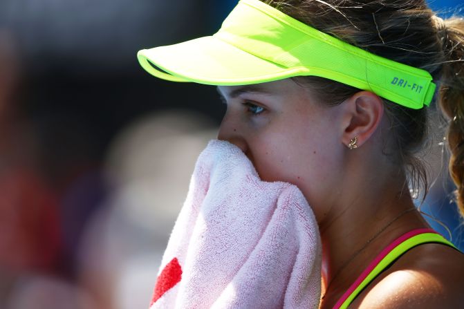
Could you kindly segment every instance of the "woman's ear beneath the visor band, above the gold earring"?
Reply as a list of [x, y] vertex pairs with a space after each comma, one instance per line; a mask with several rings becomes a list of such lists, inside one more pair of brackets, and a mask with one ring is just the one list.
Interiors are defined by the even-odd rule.
[[382, 99], [369, 91], [355, 93], [345, 102], [344, 131], [342, 142], [348, 145], [358, 138], [358, 147], [369, 140], [375, 132], [384, 113]]

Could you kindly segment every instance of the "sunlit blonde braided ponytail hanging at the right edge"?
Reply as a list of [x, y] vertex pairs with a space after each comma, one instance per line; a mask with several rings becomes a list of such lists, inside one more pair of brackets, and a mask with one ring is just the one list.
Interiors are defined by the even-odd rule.
[[444, 62], [438, 104], [449, 118], [449, 172], [456, 184], [456, 203], [464, 217], [464, 19], [434, 17], [443, 44]]

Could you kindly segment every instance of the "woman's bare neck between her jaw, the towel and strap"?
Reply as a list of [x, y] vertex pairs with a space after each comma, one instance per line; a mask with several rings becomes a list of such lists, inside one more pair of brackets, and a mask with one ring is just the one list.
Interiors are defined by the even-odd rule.
[[[376, 186], [378, 190], [363, 189], [362, 198], [345, 194], [350, 198], [344, 199], [344, 205], [331, 207], [338, 209], [339, 214], [328, 216], [333, 218], [331, 221], [319, 223], [323, 245], [322, 295], [331, 306], [385, 246], [409, 230], [428, 227], [414, 210], [407, 187], [395, 185], [398, 180], [387, 183], [392, 179], [389, 177], [378, 179], [384, 179]], [[372, 182], [368, 186], [358, 181], [358, 185], [373, 187]]]

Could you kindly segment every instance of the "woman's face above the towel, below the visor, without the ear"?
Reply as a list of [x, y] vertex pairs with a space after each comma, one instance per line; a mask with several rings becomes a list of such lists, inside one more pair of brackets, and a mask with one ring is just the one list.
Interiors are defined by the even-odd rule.
[[218, 91], [227, 104], [218, 138], [240, 147], [262, 180], [297, 185], [321, 219], [340, 185], [342, 108], [316, 102], [293, 79]]

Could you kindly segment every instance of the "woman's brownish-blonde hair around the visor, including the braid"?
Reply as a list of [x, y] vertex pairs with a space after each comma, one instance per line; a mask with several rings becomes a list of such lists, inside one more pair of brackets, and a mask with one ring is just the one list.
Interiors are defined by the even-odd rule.
[[[449, 122], [449, 171], [456, 202], [464, 216], [464, 21], [440, 19], [423, 0], [261, 0], [333, 37], [371, 53], [423, 68], [438, 84], [436, 103]], [[340, 104], [359, 89], [321, 77], [295, 77], [328, 104]], [[429, 135], [429, 108], [408, 109], [384, 100], [391, 123], [389, 138], [411, 187], [428, 191], [427, 170], [418, 151]]]

